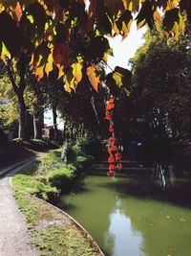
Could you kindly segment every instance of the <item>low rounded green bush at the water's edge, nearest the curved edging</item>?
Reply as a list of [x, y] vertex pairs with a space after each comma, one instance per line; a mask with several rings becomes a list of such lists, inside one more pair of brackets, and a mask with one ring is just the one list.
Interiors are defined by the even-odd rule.
[[74, 178], [74, 172], [69, 168], [61, 168], [53, 170], [48, 175], [48, 181], [53, 187], [57, 189], [66, 190], [71, 185], [71, 182]]

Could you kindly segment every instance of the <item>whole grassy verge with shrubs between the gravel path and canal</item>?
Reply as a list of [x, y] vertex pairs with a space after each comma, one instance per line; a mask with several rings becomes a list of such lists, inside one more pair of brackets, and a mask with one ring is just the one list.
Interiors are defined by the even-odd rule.
[[96, 243], [74, 221], [52, 205], [32, 197], [50, 201], [58, 197], [60, 190], [49, 182], [50, 175], [57, 174], [56, 170], [74, 177], [74, 166], [62, 161], [60, 151], [47, 153], [12, 177], [15, 199], [26, 217], [32, 245], [39, 248], [41, 256], [100, 255]]

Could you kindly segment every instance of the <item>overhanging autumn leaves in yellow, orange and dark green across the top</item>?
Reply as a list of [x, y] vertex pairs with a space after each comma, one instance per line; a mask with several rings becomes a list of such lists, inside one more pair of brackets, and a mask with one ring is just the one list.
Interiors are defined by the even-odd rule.
[[0, 3], [1, 59], [12, 61], [21, 52], [31, 55], [33, 73], [40, 80], [58, 69], [68, 92], [76, 89], [83, 74], [93, 87], [106, 82], [128, 93], [130, 73], [117, 67], [104, 76], [107, 56], [112, 55], [107, 36], [130, 31], [133, 19], [138, 28], [153, 28], [161, 22], [166, 34], [178, 40], [184, 18], [191, 19], [191, 3], [186, 0], [3, 0]]

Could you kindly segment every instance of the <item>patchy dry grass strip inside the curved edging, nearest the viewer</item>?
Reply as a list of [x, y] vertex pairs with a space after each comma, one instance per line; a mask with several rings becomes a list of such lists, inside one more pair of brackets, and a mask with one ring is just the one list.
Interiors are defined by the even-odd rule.
[[100, 255], [92, 238], [53, 206], [18, 191], [15, 198], [40, 256]]

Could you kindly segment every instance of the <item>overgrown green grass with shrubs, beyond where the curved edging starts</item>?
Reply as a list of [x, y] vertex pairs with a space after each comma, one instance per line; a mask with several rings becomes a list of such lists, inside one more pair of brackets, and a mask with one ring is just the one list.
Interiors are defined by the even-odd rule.
[[[75, 178], [74, 166], [66, 165], [60, 158], [60, 151], [51, 151], [39, 160], [33, 161], [30, 166], [25, 167], [17, 175], [12, 178], [15, 190], [24, 191], [38, 198], [43, 198], [50, 202], [54, 202], [58, 198], [63, 185], [63, 191], [67, 191], [65, 180], [71, 182]], [[56, 171], [61, 171], [59, 186], [53, 186], [53, 178], [56, 179]], [[49, 177], [52, 179], [49, 179]], [[52, 182], [50, 182], [52, 181]]]

